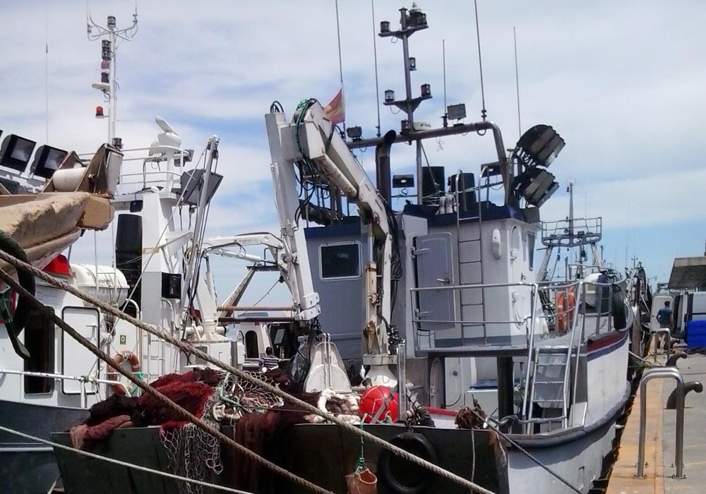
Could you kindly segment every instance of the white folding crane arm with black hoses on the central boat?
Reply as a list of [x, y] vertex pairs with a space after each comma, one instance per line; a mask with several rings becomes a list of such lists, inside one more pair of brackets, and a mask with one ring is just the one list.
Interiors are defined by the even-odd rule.
[[[282, 240], [289, 251], [289, 276], [295, 305], [311, 318], [321, 313], [313, 289], [304, 230], [299, 226], [299, 176], [316, 176], [328, 182], [359, 209], [361, 221], [369, 226], [371, 261], [365, 266], [364, 363], [387, 366], [395, 363], [390, 355], [391, 247], [388, 207], [335, 126], [326, 118], [316, 100], [300, 104], [292, 121], [285, 114], [270, 113], [267, 123], [277, 214]], [[306, 171], [306, 174], [301, 171]], [[299, 176], [297, 175], [297, 172]], [[333, 193], [333, 192], [332, 192]]]

